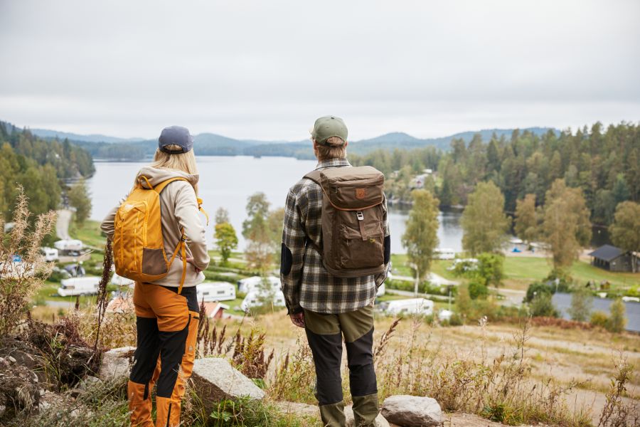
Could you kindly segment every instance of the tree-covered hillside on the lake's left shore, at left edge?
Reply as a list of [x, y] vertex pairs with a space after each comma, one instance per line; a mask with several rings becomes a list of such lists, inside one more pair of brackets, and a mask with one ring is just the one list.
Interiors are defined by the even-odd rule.
[[0, 122], [0, 212], [10, 221], [18, 183], [33, 214], [57, 209], [65, 179], [91, 176], [91, 155], [68, 140], [45, 140]]

